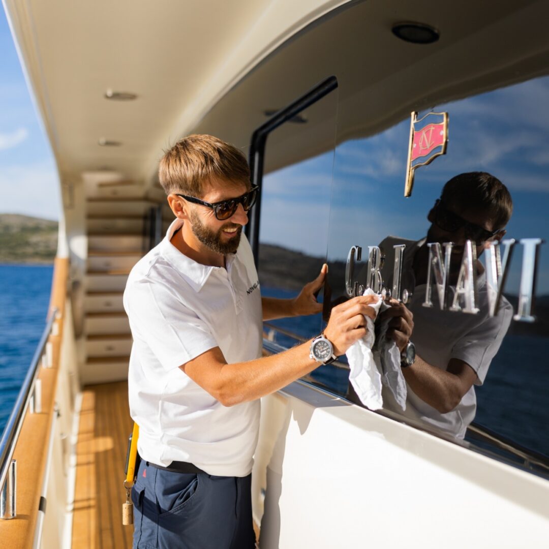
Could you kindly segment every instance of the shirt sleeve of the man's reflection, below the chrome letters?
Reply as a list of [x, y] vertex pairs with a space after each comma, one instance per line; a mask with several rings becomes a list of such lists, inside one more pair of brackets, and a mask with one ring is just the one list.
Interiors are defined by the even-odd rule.
[[500, 349], [512, 316], [511, 304], [502, 301], [496, 316], [486, 318], [453, 346], [451, 358], [463, 360], [474, 369], [477, 373], [475, 385], [484, 383], [490, 362]]

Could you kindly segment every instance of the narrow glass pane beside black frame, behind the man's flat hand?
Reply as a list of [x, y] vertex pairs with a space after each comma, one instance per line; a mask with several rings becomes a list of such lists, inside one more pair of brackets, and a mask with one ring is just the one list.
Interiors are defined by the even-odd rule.
[[[259, 280], [261, 295], [295, 298], [315, 279], [326, 261], [332, 190], [337, 90], [286, 122], [267, 138], [262, 183]], [[310, 135], [324, 152], [307, 150]], [[294, 163], [280, 167], [281, 158]], [[322, 300], [322, 292], [319, 300]], [[321, 315], [284, 318], [268, 324], [309, 339], [321, 331]], [[296, 339], [266, 327], [266, 335], [285, 347]]]

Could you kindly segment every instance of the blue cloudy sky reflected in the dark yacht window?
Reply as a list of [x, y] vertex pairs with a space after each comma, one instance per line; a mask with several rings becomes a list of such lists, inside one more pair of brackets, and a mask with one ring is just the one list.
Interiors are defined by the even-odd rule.
[[[409, 119], [376, 136], [340, 144], [335, 152], [329, 214], [329, 259], [344, 260], [351, 245], [378, 244], [388, 234], [423, 237], [429, 226], [427, 213], [442, 186], [466, 171], [488, 171], [511, 191], [514, 212], [506, 238], [549, 241], [545, 211], [549, 200], [548, 96], [549, 77], [544, 77], [434, 105], [434, 111], [450, 115], [450, 142], [445, 156], [417, 170], [411, 198], [404, 198]], [[326, 153], [266, 177], [265, 201], [272, 201], [276, 219], [266, 220], [262, 239], [310, 255], [326, 253], [324, 238], [306, 228], [318, 226], [318, 219], [328, 215], [324, 189], [329, 186], [331, 162], [332, 154]], [[549, 293], [546, 245], [540, 255], [537, 293], [545, 294]], [[509, 293], [518, 293], [521, 261], [519, 247], [506, 285]]]

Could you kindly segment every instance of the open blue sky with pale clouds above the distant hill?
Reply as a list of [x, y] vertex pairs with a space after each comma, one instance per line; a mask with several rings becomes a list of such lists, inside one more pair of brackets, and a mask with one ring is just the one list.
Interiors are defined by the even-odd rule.
[[0, 214], [59, 220], [59, 180], [0, 8]]

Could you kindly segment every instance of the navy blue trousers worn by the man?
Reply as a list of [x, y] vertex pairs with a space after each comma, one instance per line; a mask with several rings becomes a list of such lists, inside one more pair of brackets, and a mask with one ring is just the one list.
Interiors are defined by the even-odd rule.
[[142, 461], [132, 488], [133, 549], [254, 549], [251, 474], [172, 473]]

